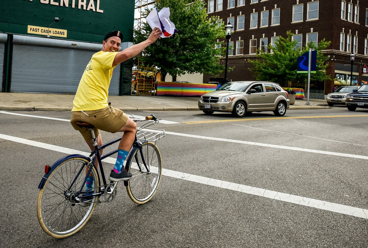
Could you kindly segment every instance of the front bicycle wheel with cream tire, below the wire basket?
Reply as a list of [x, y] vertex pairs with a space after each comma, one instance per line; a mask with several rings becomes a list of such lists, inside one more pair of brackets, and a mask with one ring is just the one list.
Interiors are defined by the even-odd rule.
[[133, 177], [128, 181], [127, 192], [133, 202], [144, 204], [152, 199], [160, 184], [162, 174], [161, 154], [155, 143], [143, 143], [142, 153], [146, 168], [139, 148], [132, 152], [133, 157], [129, 163], [128, 171]]

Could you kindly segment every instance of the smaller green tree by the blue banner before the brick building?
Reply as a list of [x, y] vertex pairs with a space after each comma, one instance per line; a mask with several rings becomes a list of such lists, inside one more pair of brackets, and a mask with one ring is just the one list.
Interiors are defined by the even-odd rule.
[[293, 33], [287, 31], [287, 38], [279, 37], [275, 42], [275, 47], [268, 45], [268, 49], [272, 53], [257, 50], [257, 57], [260, 60], [249, 60], [254, 65], [249, 70], [254, 72], [256, 80], [271, 81], [275, 83], [284, 83], [286, 81], [304, 81], [307, 79], [307, 73], [297, 73], [297, 59], [303, 53], [308, 52], [309, 48], [317, 50], [317, 68], [316, 73], [311, 73], [312, 81], [323, 81], [331, 79], [330, 75], [325, 74], [328, 59], [324, 56], [322, 50], [325, 50], [330, 41], [325, 39], [316, 46], [313, 42], [309, 42], [303, 48], [296, 48], [297, 41], [292, 41]]

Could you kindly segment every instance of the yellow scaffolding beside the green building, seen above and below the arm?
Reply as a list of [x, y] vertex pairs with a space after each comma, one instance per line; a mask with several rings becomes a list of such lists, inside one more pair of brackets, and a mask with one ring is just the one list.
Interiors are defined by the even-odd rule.
[[[153, 4], [157, 0], [136, 0], [134, 6], [134, 29], [141, 31], [142, 19], [148, 15], [149, 8], [154, 7]], [[137, 13], [138, 11], [138, 13]], [[137, 95], [155, 95], [156, 90], [156, 68], [141, 66], [141, 57], [138, 55], [137, 69], [132, 70], [132, 91]]]

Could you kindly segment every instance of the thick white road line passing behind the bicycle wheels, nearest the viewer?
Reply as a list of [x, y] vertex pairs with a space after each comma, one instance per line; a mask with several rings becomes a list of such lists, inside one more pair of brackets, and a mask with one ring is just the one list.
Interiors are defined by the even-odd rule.
[[[66, 154], [82, 154], [85, 156], [89, 155], [89, 153], [86, 153], [83, 151], [73, 150], [73, 149], [69, 149], [69, 148], [61, 147], [61, 146], [54, 146], [52, 144], [36, 142], [36, 141], [22, 139], [19, 137], [14, 137], [14, 136], [9, 136], [9, 135], [0, 134], [0, 139], [11, 140], [13, 142], [28, 144], [30, 146], [40, 147], [40, 148], [44, 148], [44, 149], [48, 149], [52, 151], [66, 153]], [[110, 163], [110, 164], [115, 164], [115, 160], [116, 160], [115, 158], [109, 157], [109, 158], [105, 158], [105, 160], [103, 161]], [[156, 169], [157, 168], [155, 168], [154, 171], [156, 171]], [[363, 219], [368, 219], [368, 210], [358, 208], [358, 207], [352, 207], [352, 206], [347, 206], [347, 205], [342, 205], [342, 204], [337, 204], [337, 203], [332, 203], [332, 202], [326, 202], [323, 200], [306, 198], [303, 196], [290, 195], [290, 194], [286, 194], [282, 192], [270, 191], [268, 189], [256, 188], [256, 187], [247, 186], [243, 184], [235, 184], [233, 182], [227, 182], [227, 181], [222, 181], [222, 180], [208, 178], [208, 177], [201, 177], [198, 175], [192, 175], [192, 174], [187, 174], [187, 173], [172, 171], [172, 170], [167, 170], [167, 169], [163, 169], [162, 174], [167, 177], [183, 179], [186, 181], [196, 182], [199, 184], [215, 186], [215, 187], [223, 188], [223, 189], [230, 189], [233, 191], [247, 193], [250, 195], [262, 196], [262, 197], [266, 197], [270, 199], [280, 200], [283, 202], [290, 202], [290, 203], [294, 203], [294, 204], [298, 204], [302, 206], [313, 207], [316, 209], [322, 209], [322, 210], [327, 210], [327, 211], [331, 211], [335, 213], [347, 214], [347, 215], [351, 215], [355, 217], [360, 217]]]

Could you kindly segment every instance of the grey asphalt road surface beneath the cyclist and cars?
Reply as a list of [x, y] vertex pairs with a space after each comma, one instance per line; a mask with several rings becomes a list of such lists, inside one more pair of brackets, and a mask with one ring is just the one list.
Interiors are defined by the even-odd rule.
[[[70, 118], [70, 112], [12, 113]], [[368, 247], [368, 111], [338, 106], [243, 119], [201, 111], [130, 113], [178, 122], [155, 125], [167, 132], [157, 143], [163, 168], [199, 177], [163, 176], [145, 205], [133, 203], [120, 184], [118, 197], [96, 206], [81, 231], [57, 240], [39, 226], [37, 186], [45, 164], [67, 154], [12, 139], [88, 147], [67, 121], [0, 112], [0, 247]], [[118, 134], [102, 137], [107, 142]], [[242, 190], [248, 186], [254, 188]]]

